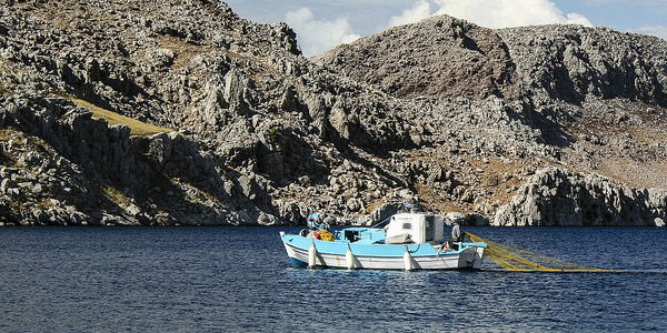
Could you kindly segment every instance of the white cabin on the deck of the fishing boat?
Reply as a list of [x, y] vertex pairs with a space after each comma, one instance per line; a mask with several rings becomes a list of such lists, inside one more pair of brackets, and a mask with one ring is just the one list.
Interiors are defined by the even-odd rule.
[[[400, 239], [406, 234], [417, 244], [439, 243], [445, 240], [442, 215], [435, 213], [398, 213], [391, 216], [387, 226], [387, 241]], [[400, 242], [399, 242], [400, 243]]]

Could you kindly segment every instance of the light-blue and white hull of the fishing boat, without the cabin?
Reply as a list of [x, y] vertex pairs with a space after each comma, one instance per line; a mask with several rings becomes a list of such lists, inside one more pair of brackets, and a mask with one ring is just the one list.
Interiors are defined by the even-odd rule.
[[484, 260], [484, 248], [475, 244], [466, 245], [460, 251], [438, 252], [428, 243], [355, 244], [299, 235], [282, 234], [281, 238], [287, 255], [296, 268], [312, 264], [366, 270], [459, 270], [480, 269]]

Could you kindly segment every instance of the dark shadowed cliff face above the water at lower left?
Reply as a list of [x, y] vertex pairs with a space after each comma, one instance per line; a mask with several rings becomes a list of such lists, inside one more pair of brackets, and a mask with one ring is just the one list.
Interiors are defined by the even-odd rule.
[[[130, 137], [129, 128], [109, 127], [60, 98], [36, 97], [31, 105], [12, 102], [24, 101], [2, 105], [14, 111], [8, 121], [19, 129], [6, 132], [10, 153], [2, 190], [23, 206], [18, 216], [3, 216], [3, 223], [277, 222], [266, 194], [253, 193], [259, 186], [253, 180], [216, 170], [212, 157], [201, 155], [177, 132]], [[21, 129], [43, 141], [26, 138]], [[11, 212], [13, 205], [8, 201], [4, 210]], [[235, 211], [241, 210], [256, 220], [237, 220]]]

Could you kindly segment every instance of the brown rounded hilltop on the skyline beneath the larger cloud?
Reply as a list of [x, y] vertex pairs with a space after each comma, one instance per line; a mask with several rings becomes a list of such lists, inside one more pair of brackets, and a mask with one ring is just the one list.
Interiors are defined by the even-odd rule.
[[400, 98], [512, 93], [515, 63], [494, 31], [447, 16], [392, 28], [313, 57]]

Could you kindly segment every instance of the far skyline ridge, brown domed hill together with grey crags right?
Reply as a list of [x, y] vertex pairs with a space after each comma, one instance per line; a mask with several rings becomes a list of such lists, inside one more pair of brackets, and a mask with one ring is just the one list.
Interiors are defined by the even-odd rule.
[[607, 28], [491, 30], [447, 16], [342, 44], [312, 60], [400, 97], [488, 95], [577, 104], [587, 97], [667, 107], [663, 39]]

